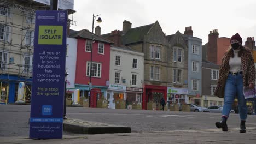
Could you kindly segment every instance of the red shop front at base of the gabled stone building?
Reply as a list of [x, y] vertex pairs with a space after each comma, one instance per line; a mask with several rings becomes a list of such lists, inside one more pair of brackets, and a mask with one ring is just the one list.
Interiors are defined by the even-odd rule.
[[166, 100], [167, 87], [145, 85], [142, 96], [142, 109], [147, 110], [147, 103], [155, 103], [156, 106], [160, 106], [161, 98]]

